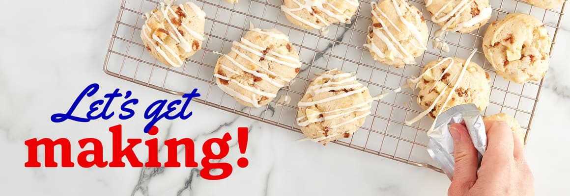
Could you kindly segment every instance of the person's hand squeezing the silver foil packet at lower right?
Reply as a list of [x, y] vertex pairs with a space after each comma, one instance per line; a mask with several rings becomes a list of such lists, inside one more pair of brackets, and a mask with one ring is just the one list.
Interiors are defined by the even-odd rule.
[[485, 121], [487, 151], [477, 172], [478, 153], [463, 124], [452, 124], [455, 173], [447, 195], [534, 195], [534, 177], [523, 141], [506, 123]]

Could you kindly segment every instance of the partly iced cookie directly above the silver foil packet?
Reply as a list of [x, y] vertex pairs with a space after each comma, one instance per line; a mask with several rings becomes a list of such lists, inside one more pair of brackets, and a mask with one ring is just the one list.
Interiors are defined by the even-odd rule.
[[[471, 56], [472, 57], [472, 56]], [[490, 78], [487, 72], [467, 60], [448, 57], [431, 61], [414, 82], [418, 93], [418, 105], [425, 111], [421, 116], [436, 118], [439, 114], [453, 106], [474, 103], [483, 111], [489, 105]]]

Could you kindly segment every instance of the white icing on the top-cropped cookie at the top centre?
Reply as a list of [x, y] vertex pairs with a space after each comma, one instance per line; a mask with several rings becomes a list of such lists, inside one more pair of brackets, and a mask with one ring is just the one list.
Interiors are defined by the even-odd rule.
[[[321, 17], [319, 14], [315, 14], [315, 12], [312, 10], [313, 8], [327, 14], [328, 16], [331, 16], [332, 18], [335, 18], [336, 20], [339, 20], [341, 23], [347, 23], [350, 24], [351, 20], [348, 15], [344, 14], [343, 10], [338, 9], [337, 7], [335, 7], [334, 5], [332, 5], [331, 3], [328, 3], [327, 1], [324, 0], [301, 0], [303, 1], [303, 3], [299, 2], [299, 0], [291, 0], [292, 2], [294, 2], [298, 7], [296, 8], [289, 8], [285, 5], [281, 6], [281, 10], [283, 10], [283, 12], [285, 12], [285, 14], [291, 16], [292, 18], [299, 20], [299, 22], [306, 24], [307, 26], [310, 26], [312, 28], [315, 28], [317, 30], [321, 30], [321, 32], [323, 34], [326, 34], [326, 30], [327, 30], [327, 26], [329, 26], [330, 24], [327, 22], [327, 20], [323, 19], [323, 17]], [[349, 4], [353, 5], [353, 6], [359, 6], [359, 2], [358, 0], [341, 0], [341, 1], [345, 1], [348, 2]], [[331, 7], [335, 12], [324, 9], [323, 5], [327, 5], [328, 7]], [[307, 10], [309, 12], [311, 12], [312, 15], [315, 16], [315, 18], [317, 18], [317, 20], [319, 20], [321, 23], [324, 24], [324, 27], [320, 27], [319, 24], [310, 22], [306, 19], [301, 18], [299, 15], [294, 14], [293, 12], [295, 11], [300, 11], [300, 10]]]

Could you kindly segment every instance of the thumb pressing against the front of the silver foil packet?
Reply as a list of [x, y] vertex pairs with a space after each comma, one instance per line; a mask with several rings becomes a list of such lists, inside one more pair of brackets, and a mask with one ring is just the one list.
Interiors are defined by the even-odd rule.
[[462, 124], [451, 124], [449, 132], [455, 146], [455, 172], [449, 195], [465, 195], [477, 181], [477, 166], [479, 165], [477, 149]]

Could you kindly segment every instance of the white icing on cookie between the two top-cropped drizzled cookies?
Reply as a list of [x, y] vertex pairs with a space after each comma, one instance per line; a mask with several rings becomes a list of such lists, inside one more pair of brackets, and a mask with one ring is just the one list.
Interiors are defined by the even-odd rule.
[[[425, 49], [424, 40], [423, 40], [418, 28], [413, 23], [410, 23], [408, 20], [406, 20], [404, 18], [404, 15], [402, 14], [400, 7], [398, 6], [398, 4], [396, 2], [399, 0], [389, 0], [389, 1], [391, 1], [392, 4], [394, 5], [394, 9], [396, 10], [398, 18], [406, 26], [406, 28], [410, 31], [410, 34], [412, 34], [412, 36], [414, 37], [414, 40], [416, 40], [416, 42], [417, 42], [417, 43], [414, 43], [414, 41], [412, 41], [410, 43], [412, 43], [412, 45], [418, 49]], [[404, 7], [406, 8], [406, 11], [412, 10], [412, 7], [410, 7], [408, 5], [408, 3], [404, 2], [404, 1], [401, 1], [400, 3], [401, 3], [401, 5], [404, 5]], [[406, 64], [415, 64], [416, 61], [415, 61], [414, 57], [412, 55], [410, 55], [410, 53], [402, 46], [400, 41], [398, 41], [394, 37], [394, 35], [392, 34], [392, 32], [390, 32], [388, 26], [386, 25], [385, 21], [382, 20], [376, 12], [378, 12], [382, 16], [384, 16], [384, 18], [386, 20], [388, 20], [388, 22], [390, 24], [392, 24], [391, 27], [393, 27], [396, 31], [401, 32], [401, 30], [394, 24], [394, 22], [392, 20], [390, 20], [390, 18], [388, 18], [388, 16], [380, 9], [380, 7], [378, 7], [377, 3], [371, 2], [370, 6], [372, 6], [372, 16], [374, 18], [376, 18], [378, 20], [378, 22], [380, 22], [380, 24], [382, 25], [381, 30], [379, 30], [378, 28], [372, 28], [372, 32], [373, 32], [374, 36], [377, 36], [378, 38], [380, 38], [380, 40], [382, 40], [382, 42], [384, 42], [384, 44], [386, 44], [388, 51], [394, 52], [395, 57], [397, 57], [398, 59], [402, 59]], [[374, 10], [376, 10], [376, 11], [374, 11]], [[417, 12], [414, 12], [414, 11], [411, 11], [411, 12], [413, 13], [414, 17], [421, 18], [421, 16], [418, 15]], [[380, 49], [373, 42], [371, 42], [370, 44], [364, 44], [364, 46], [368, 47], [370, 50], [372, 50], [372, 52], [376, 53], [376, 55], [378, 57], [380, 57], [382, 59], [385, 58], [384, 53], [382, 51], [380, 51]]]

